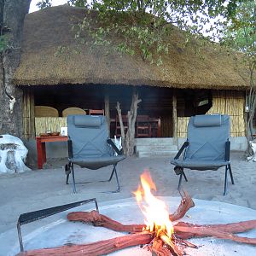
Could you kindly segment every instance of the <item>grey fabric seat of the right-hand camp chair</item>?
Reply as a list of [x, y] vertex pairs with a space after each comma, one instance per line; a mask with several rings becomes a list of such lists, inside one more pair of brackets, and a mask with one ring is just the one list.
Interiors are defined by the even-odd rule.
[[224, 160], [171, 160], [171, 164], [174, 166], [180, 166], [183, 168], [188, 168], [191, 170], [206, 171], [212, 170], [216, 171], [221, 166], [227, 166], [230, 161]]

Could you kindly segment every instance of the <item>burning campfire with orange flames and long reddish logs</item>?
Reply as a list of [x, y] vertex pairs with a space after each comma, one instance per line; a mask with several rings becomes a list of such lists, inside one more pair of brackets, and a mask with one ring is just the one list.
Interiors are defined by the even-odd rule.
[[[70, 212], [70, 221], [104, 227], [110, 230], [129, 233], [125, 236], [108, 240], [96, 241], [89, 244], [68, 244], [62, 247], [35, 249], [20, 253], [20, 255], [103, 255], [113, 253], [125, 247], [143, 245], [154, 256], [182, 256], [184, 248], [197, 246], [187, 239], [213, 236], [256, 246], [256, 238], [236, 236], [256, 228], [256, 220], [242, 221], [232, 224], [199, 225], [177, 222], [183, 218], [195, 203], [187, 192], [183, 192], [182, 200], [177, 211], [169, 214], [166, 203], [154, 196], [156, 186], [149, 172], [141, 176], [141, 184], [134, 195], [137, 204], [144, 215], [144, 224], [121, 224], [96, 211]], [[84, 226], [86, 228], [86, 226]]]

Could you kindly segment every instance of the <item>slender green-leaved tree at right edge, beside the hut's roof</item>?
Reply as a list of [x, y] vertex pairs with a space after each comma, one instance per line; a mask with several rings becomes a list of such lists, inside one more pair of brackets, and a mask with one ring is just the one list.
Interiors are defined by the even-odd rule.
[[242, 1], [236, 8], [236, 13], [230, 17], [230, 24], [224, 31], [222, 44], [240, 50], [245, 55], [248, 64], [250, 88], [247, 91], [247, 138], [252, 139], [253, 118], [256, 113], [256, 2]]

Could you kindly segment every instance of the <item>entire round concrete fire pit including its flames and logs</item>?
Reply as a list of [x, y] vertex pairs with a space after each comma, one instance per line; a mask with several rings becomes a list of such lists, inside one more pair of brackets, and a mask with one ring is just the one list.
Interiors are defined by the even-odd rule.
[[[172, 222], [169, 220], [169, 212], [174, 212], [175, 210], [177, 210], [177, 205], [180, 199], [167, 197], [163, 198], [163, 201], [160, 201], [158, 198], [154, 197], [154, 195], [151, 194], [152, 189], [155, 189], [155, 185], [152, 182], [150, 176], [143, 174], [142, 186], [140, 186], [137, 192], [135, 193], [137, 196], [139, 207], [137, 206], [137, 203], [135, 202], [134, 199], [128, 199], [123, 201], [113, 201], [111, 204], [108, 203], [105, 206], [101, 206], [101, 214], [99, 214], [98, 212], [90, 212], [90, 210], [92, 209], [86, 206], [80, 207], [80, 209], [76, 209], [79, 210], [80, 212], [69, 211], [72, 213], [69, 213], [68, 215], [67, 212], [59, 213], [58, 217], [55, 217], [55, 220], [52, 220], [50, 224], [44, 225], [43, 227], [38, 228], [29, 235], [25, 236], [24, 244], [26, 250], [39, 249], [45, 247], [60, 248], [45, 251], [31, 251], [28, 252], [28, 255], [34, 255], [34, 253], [36, 255], [46, 255], [48, 253], [53, 253], [50, 255], [55, 255], [54, 253], [57, 252], [59, 254], [61, 252], [90, 252], [84, 255], [99, 255], [98, 253], [93, 252], [102, 252], [101, 254], [103, 254], [104, 252], [110, 252], [111, 250], [109, 251], [109, 249], [107, 249], [109, 246], [106, 246], [109, 245], [109, 243], [111, 247], [119, 249], [122, 248], [122, 244], [126, 244], [126, 246], [135, 245], [136, 242], [132, 241], [132, 239], [137, 239], [138, 241], [143, 241], [143, 244], [148, 244], [150, 243], [153, 237], [154, 240], [153, 242], [150, 243], [149, 246], [146, 245], [143, 247], [129, 247], [123, 250], [119, 250], [118, 252], [113, 253], [113, 255], [183, 255], [183, 253], [189, 253], [189, 255], [234, 255], [234, 253], [237, 253], [237, 255], [254, 255], [256, 253], [255, 239], [239, 239], [237, 238], [237, 236], [234, 236], [232, 238], [235, 239], [236, 241], [242, 240], [243, 242], [253, 243], [254, 246], [250, 244], [238, 243], [236, 241], [221, 240], [212, 237], [193, 240], [190, 239], [189, 241], [183, 240], [183, 237], [181, 237], [181, 235], [178, 235], [181, 233], [177, 233], [179, 227], [183, 228], [183, 224], [179, 223], [178, 225], [175, 226], [175, 222], [172, 224]], [[166, 201], [167, 205], [169, 205], [169, 211], [167, 211], [167, 207], [164, 201]], [[183, 201], [181, 202], [180, 206], [182, 206], [182, 203], [183, 206], [186, 205], [186, 203], [184, 203], [186, 201], [189, 201], [189, 196], [185, 196], [183, 198]], [[237, 223], [241, 221], [252, 220], [256, 216], [255, 211], [253, 211], [252, 209], [248, 209], [245, 207], [237, 207], [234, 205], [224, 204], [220, 202], [196, 200], [195, 206], [196, 207], [191, 208], [189, 212], [187, 212], [187, 210], [177, 211], [176, 213], [172, 214], [171, 218], [175, 218], [175, 216], [181, 218], [182, 214], [180, 214], [180, 212], [183, 212], [184, 214], [185, 212], [187, 212], [182, 220], [185, 222], [189, 222], [190, 224], [198, 225]], [[139, 208], [141, 208], [142, 211], [140, 211]], [[187, 207], [186, 209], [188, 208], [189, 207]], [[102, 214], [106, 216], [103, 216]], [[94, 227], [91, 224], [83, 224], [80, 222], [69, 222], [67, 221], [67, 218], [72, 221], [82, 220], [85, 221], [86, 223], [92, 222], [97, 227]], [[143, 224], [143, 219], [144, 223], [146, 224], [144, 225], [143, 229], [142, 225], [127, 225]], [[119, 221], [119, 223], [116, 223], [113, 220]], [[178, 221], [181, 220], [179, 219]], [[172, 235], [172, 225], [174, 226], [174, 230], [176, 231], [175, 235]], [[237, 228], [241, 230], [242, 225], [243, 224], [236, 225], [236, 230]], [[248, 227], [248, 225], [249, 222], [247, 222], [246, 226]], [[104, 226], [105, 228], [103, 228], [102, 226]], [[251, 223], [251, 226], [255, 227], [255, 220]], [[108, 229], [106, 229], [106, 227], [108, 227]], [[143, 233], [137, 233], [137, 235], [128, 236], [125, 236], [124, 233], [113, 231], [127, 231], [127, 229], [131, 230], [131, 227], [132, 232], [134, 232], [134, 229], [137, 229], [140, 232], [143, 230], [145, 231]], [[198, 227], [193, 227], [191, 225], [186, 226], [186, 228], [188, 230], [185, 231], [186, 233], [191, 233], [193, 229], [196, 230], [196, 232], [198, 231]], [[224, 238], [230, 239], [231, 235], [229, 234], [232, 233], [232, 230], [228, 231], [230, 227], [224, 225], [224, 231], [221, 230], [222, 228], [223, 227], [220, 227], [219, 225], [218, 230], [211, 230], [211, 227], [204, 226], [202, 229], [200, 228], [202, 232], [200, 233], [200, 235], [205, 235], [203, 234], [204, 230], [210, 230], [212, 232], [210, 232], [212, 236], [224, 236]], [[125, 238], [122, 237], [122, 239], [119, 239], [117, 238], [119, 236], [124, 236]], [[254, 229], [251, 231], [247, 231], [241, 236], [252, 238], [256, 237], [256, 230]], [[114, 240], [110, 242], [109, 239], [111, 238], [114, 238]], [[130, 241], [127, 239], [130, 239]], [[88, 246], [84, 246], [84, 244], [92, 243], [95, 241], [101, 242], [97, 243], [96, 246], [89, 245], [89, 250], [87, 249], [89, 248]], [[139, 243], [140, 242], [137, 242], [137, 244]], [[79, 247], [74, 246], [72, 244], [82, 244], [83, 246]], [[197, 246], [196, 248], [194, 244]], [[63, 245], [65, 247], [63, 247]], [[99, 250], [99, 247], [101, 247], [102, 249]], [[12, 252], [13, 253], [11, 253], [10, 255], [18, 253], [17, 247], [13, 247]]]

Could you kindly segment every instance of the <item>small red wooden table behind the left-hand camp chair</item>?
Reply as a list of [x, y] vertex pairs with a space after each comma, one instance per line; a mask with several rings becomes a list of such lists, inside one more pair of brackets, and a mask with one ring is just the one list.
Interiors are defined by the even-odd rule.
[[43, 164], [46, 163], [45, 143], [67, 142], [67, 139], [67, 136], [36, 137], [38, 151], [38, 169], [43, 169]]

